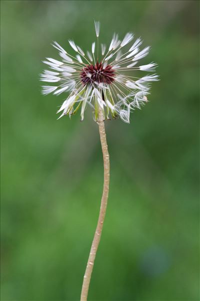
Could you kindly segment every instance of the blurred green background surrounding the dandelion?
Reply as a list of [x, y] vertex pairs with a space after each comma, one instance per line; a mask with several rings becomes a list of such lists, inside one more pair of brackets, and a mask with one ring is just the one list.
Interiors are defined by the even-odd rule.
[[78, 300], [103, 169], [87, 109], [56, 120], [50, 46], [132, 31], [160, 81], [131, 123], [106, 121], [110, 193], [88, 300], [197, 301], [197, 1], [1, 1], [1, 300]]

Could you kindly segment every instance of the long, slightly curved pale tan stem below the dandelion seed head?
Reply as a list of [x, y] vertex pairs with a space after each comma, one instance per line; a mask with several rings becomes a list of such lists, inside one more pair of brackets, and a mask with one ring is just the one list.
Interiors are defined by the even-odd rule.
[[101, 148], [102, 148], [102, 154], [103, 154], [103, 167], [104, 167], [103, 193], [102, 193], [102, 197], [101, 197], [100, 212], [99, 212], [99, 216], [98, 216], [96, 231], [94, 233], [91, 249], [89, 252], [89, 258], [88, 258], [87, 266], [86, 266], [85, 273], [84, 273], [80, 301], [87, 300], [91, 273], [92, 273], [92, 269], [93, 269], [96, 252], [98, 249], [98, 244], [100, 242], [100, 236], [101, 236], [101, 232], [102, 232], [102, 227], [103, 227], [103, 222], [104, 222], [104, 217], [105, 217], [105, 212], [106, 212], [106, 207], [107, 207], [108, 191], [109, 191], [109, 153], [108, 153], [108, 149], [107, 149], [105, 127], [104, 127], [103, 114], [102, 114], [101, 109], [99, 109], [98, 116], [99, 116], [98, 117], [98, 127], [99, 127], [100, 142], [101, 142]]

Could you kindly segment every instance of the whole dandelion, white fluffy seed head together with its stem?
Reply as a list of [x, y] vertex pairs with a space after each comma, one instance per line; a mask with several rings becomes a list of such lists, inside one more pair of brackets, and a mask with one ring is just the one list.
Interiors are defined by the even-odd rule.
[[59, 95], [67, 92], [66, 99], [57, 111], [61, 113], [58, 119], [64, 115], [71, 117], [79, 110], [80, 120], [83, 120], [84, 111], [89, 106], [92, 109], [93, 119], [99, 127], [104, 184], [97, 227], [83, 278], [81, 301], [87, 300], [109, 191], [109, 154], [104, 120], [120, 118], [129, 123], [130, 112], [135, 108], [140, 109], [147, 102], [150, 82], [158, 80], [158, 76], [154, 73], [141, 75], [142, 72], [154, 72], [157, 64], [153, 62], [146, 65], [139, 64], [150, 50], [149, 46], [140, 49], [142, 44], [140, 38], [132, 42], [134, 38], [132, 33], [127, 33], [122, 40], [114, 34], [108, 48], [105, 44], [100, 44], [99, 49], [100, 23], [94, 22], [94, 26], [97, 43], [91, 44], [91, 51], [86, 51], [85, 54], [72, 40], [68, 40], [74, 52], [71, 55], [57, 42], [53, 42], [52, 46], [58, 50], [60, 60], [46, 58], [43, 63], [50, 70], [44, 70], [40, 75], [41, 81], [53, 84], [42, 86], [42, 94]]

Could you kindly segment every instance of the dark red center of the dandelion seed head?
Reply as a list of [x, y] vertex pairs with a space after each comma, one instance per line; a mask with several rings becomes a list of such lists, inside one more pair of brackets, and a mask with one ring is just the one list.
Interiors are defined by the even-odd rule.
[[80, 78], [84, 85], [97, 83], [111, 84], [114, 81], [114, 70], [110, 65], [103, 67], [98, 61], [95, 65], [87, 65], [82, 68]]

